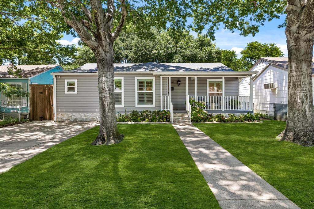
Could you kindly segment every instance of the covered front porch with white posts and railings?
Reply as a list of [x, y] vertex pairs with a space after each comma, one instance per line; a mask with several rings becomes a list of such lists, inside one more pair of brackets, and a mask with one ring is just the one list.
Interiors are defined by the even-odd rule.
[[[239, 95], [243, 76], [160, 76], [160, 109], [191, 116], [190, 100], [201, 102], [208, 113], [252, 112], [252, 84], [249, 95]], [[252, 82], [251, 82], [252, 83]]]

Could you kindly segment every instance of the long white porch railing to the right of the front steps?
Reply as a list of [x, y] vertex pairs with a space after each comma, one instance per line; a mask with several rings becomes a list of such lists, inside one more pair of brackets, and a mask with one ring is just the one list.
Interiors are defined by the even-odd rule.
[[188, 96], [202, 102], [203, 110], [250, 110], [250, 96]]

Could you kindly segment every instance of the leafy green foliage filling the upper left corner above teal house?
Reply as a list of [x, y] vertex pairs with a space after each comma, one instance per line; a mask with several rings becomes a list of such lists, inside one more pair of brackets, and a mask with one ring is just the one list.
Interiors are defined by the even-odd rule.
[[[42, 18], [43, 8], [23, 0], [3, 0], [0, 3], [0, 62], [14, 64], [55, 64], [71, 61], [76, 48], [63, 46], [65, 24], [59, 24], [58, 13], [51, 11], [54, 19]], [[47, 13], [48, 14], [48, 13]]]

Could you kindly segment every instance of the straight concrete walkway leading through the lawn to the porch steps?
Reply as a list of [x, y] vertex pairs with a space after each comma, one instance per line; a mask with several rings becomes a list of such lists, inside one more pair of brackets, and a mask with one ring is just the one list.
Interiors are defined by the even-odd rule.
[[191, 124], [173, 124], [221, 208], [299, 208]]

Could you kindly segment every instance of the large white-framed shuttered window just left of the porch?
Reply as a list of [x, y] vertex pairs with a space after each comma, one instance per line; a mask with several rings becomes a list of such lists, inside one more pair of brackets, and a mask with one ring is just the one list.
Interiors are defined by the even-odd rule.
[[135, 77], [135, 107], [155, 107], [155, 77]]

